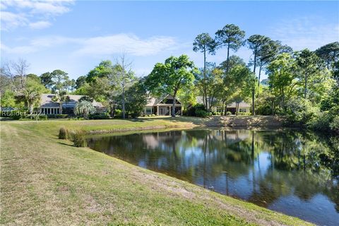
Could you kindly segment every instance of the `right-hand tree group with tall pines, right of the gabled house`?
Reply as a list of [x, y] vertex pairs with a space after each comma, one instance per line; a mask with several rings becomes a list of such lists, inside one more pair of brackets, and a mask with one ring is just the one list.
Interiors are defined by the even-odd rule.
[[[240, 47], [251, 49], [251, 59], [232, 55]], [[251, 114], [284, 116], [287, 124], [339, 131], [339, 42], [293, 51], [264, 35], [245, 38], [244, 30], [229, 24], [215, 32], [197, 35], [195, 52], [204, 65], [196, 75], [196, 95], [209, 111], [231, 102], [251, 103]], [[225, 61], [208, 62], [208, 54], [225, 49]], [[261, 81], [266, 73], [267, 79]], [[194, 95], [194, 94], [192, 94]], [[226, 111], [224, 111], [226, 112]]]

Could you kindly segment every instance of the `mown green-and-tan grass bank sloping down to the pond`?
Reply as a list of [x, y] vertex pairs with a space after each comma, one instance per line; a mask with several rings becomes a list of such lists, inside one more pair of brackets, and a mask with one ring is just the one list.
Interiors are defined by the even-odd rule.
[[[177, 121], [179, 120], [179, 121]], [[1, 224], [307, 225], [164, 174], [57, 139], [59, 127], [87, 131], [188, 126], [143, 121], [1, 122]]]

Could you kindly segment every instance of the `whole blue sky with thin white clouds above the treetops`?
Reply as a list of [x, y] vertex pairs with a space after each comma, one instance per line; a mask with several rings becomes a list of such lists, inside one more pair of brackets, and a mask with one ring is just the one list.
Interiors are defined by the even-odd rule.
[[[293, 49], [311, 50], [339, 40], [338, 1], [1, 1], [1, 63], [26, 59], [30, 73], [61, 69], [83, 76], [122, 53], [138, 76], [155, 63], [188, 54], [201, 32], [214, 35], [227, 23], [246, 37], [266, 35]], [[234, 53], [248, 62], [251, 52]], [[219, 49], [208, 61], [226, 57]]]

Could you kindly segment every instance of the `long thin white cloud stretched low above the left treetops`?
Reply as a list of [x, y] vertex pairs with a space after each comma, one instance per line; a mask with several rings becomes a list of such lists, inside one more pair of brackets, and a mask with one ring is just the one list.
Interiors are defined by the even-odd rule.
[[2, 44], [1, 49], [11, 54], [28, 54], [67, 44], [72, 44], [73, 48], [69, 49], [69, 54], [95, 57], [106, 57], [121, 52], [133, 56], [150, 56], [179, 47], [174, 37], [154, 36], [142, 39], [133, 34], [117, 34], [90, 38], [39, 37], [30, 40], [29, 44], [23, 46], [8, 47]]

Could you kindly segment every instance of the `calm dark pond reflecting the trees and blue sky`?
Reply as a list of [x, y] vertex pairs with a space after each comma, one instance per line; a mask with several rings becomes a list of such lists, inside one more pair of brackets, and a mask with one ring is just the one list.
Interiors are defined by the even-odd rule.
[[271, 210], [339, 225], [339, 148], [314, 134], [194, 129], [95, 136], [88, 145]]

